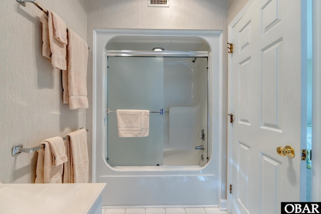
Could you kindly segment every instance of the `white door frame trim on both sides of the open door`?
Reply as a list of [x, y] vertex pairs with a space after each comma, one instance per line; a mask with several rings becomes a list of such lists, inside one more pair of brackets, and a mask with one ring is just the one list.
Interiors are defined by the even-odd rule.
[[[243, 15], [248, 11], [249, 7], [253, 4], [255, 0], [249, 0], [246, 6], [240, 11], [240, 13], [233, 19], [233, 21], [228, 25], [228, 42], [233, 43], [233, 33], [232, 29], [238, 23], [238, 21], [243, 17]], [[318, 0], [313, 1], [313, 10], [314, 12], [321, 10], [321, 2]], [[313, 49], [313, 59], [320, 59], [321, 58], [321, 41], [317, 38], [321, 37], [321, 15], [319, 13], [313, 13], [313, 44], [315, 49]], [[228, 113], [233, 113], [233, 100], [232, 100], [232, 71], [233, 71], [233, 61], [232, 61], [232, 54], [228, 55]], [[320, 151], [321, 150], [321, 134], [317, 133], [316, 130], [320, 130], [321, 128], [321, 114], [317, 111], [321, 108], [321, 73], [318, 72], [321, 70], [321, 61], [313, 60], [313, 97], [312, 100], [312, 136], [313, 136], [313, 150]], [[232, 183], [232, 128], [233, 123], [230, 123], [230, 117], [226, 115], [228, 120], [228, 127], [227, 127], [227, 211], [231, 213], [232, 207], [232, 195], [229, 194], [229, 185]], [[316, 153], [316, 152], [314, 152]], [[314, 155], [315, 157], [316, 155]], [[301, 164], [302, 165], [302, 164]], [[315, 172], [312, 176], [312, 189], [311, 189], [311, 199], [312, 201], [321, 201], [321, 185], [319, 184], [319, 180], [321, 179], [321, 158], [318, 159], [314, 158], [312, 170], [314, 169]], [[303, 177], [301, 175], [301, 177]], [[305, 189], [305, 186], [301, 185], [301, 190]], [[303, 197], [300, 195], [300, 199]], [[305, 198], [305, 197], [304, 197]]]

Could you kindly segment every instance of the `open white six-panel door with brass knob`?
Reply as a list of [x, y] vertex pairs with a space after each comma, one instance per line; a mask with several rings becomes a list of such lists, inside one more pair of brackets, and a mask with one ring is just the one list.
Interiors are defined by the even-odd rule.
[[[232, 29], [233, 214], [300, 199], [300, 4], [256, 0]], [[293, 158], [277, 154], [286, 145]]]

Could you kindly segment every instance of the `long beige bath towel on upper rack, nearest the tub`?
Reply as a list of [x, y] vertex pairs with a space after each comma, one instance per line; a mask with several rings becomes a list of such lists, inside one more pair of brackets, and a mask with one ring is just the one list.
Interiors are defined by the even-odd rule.
[[68, 28], [68, 90], [70, 109], [88, 108], [87, 61], [87, 43]]

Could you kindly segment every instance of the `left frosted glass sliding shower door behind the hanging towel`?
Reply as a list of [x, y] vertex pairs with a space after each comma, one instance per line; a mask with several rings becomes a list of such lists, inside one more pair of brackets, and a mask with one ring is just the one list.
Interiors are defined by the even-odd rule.
[[[164, 105], [163, 57], [110, 57], [107, 108], [159, 111]], [[163, 165], [163, 115], [149, 113], [147, 137], [118, 137], [116, 112], [107, 116], [107, 162], [111, 166]]]

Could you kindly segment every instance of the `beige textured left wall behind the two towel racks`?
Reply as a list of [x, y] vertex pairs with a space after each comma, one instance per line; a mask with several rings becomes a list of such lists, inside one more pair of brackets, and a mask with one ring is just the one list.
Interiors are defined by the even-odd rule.
[[[39, 3], [54, 11], [86, 40], [86, 0]], [[87, 128], [86, 110], [69, 110], [68, 105], [62, 104], [61, 71], [53, 69], [51, 61], [42, 56], [42, 14], [31, 3], [23, 7], [15, 0], [1, 1], [0, 181], [3, 183], [35, 181], [37, 152], [12, 156], [12, 146], [24, 144], [30, 148], [46, 138]]]

